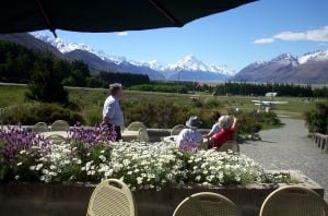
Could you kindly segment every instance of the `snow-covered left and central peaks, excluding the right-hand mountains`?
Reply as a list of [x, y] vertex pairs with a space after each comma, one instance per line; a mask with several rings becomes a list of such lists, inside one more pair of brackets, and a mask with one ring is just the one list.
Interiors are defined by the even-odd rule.
[[[213, 64], [203, 63], [192, 55], [186, 56], [185, 58], [178, 60], [176, 63], [172, 63], [172, 64], [162, 63], [156, 60], [144, 62], [144, 61], [127, 60], [125, 57], [109, 56], [103, 51], [96, 51], [87, 45], [67, 43], [61, 38], [54, 38], [52, 36], [48, 36], [42, 33], [34, 34], [34, 36], [43, 41], [52, 45], [60, 52], [66, 53], [66, 56], [68, 56], [69, 58], [81, 59], [83, 57], [81, 60], [83, 60], [85, 63], [90, 62], [89, 64], [92, 64], [92, 67], [96, 67], [98, 63], [95, 62], [99, 62], [98, 60], [96, 60], [94, 56], [98, 57], [101, 60], [105, 62], [110, 63], [110, 65], [106, 65], [102, 63], [101, 64], [102, 67], [97, 70], [112, 69], [112, 71], [117, 71], [117, 72], [132, 72], [132, 73], [143, 72], [145, 74], [149, 74], [151, 79], [155, 79], [155, 80], [159, 79], [162, 80], [165, 77], [169, 80], [174, 80], [176, 73], [179, 73], [178, 79], [184, 80], [183, 77], [184, 75], [180, 76], [181, 72], [183, 73], [194, 72], [194, 75], [195, 73], [203, 73], [203, 74], [198, 74], [197, 79], [192, 79], [192, 77], [187, 79], [187, 80], [191, 79], [191, 81], [209, 81], [209, 80], [222, 81], [233, 76], [236, 73], [236, 71], [232, 70], [226, 65], [213, 65]], [[80, 50], [80, 51], [75, 51], [75, 50]], [[92, 53], [94, 56], [83, 53], [83, 51]], [[89, 61], [87, 58], [91, 57], [92, 57], [92, 61]], [[118, 68], [113, 67], [113, 63], [117, 64]], [[213, 73], [214, 75], [211, 73]], [[160, 74], [162, 74], [162, 76]]]

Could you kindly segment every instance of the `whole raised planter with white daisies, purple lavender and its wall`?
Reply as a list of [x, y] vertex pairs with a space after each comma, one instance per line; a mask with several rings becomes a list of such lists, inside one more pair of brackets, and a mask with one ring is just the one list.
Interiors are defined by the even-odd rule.
[[75, 128], [67, 143], [51, 143], [24, 130], [0, 131], [0, 215], [83, 215], [102, 179], [122, 179], [139, 215], [172, 215], [186, 196], [223, 194], [244, 215], [257, 215], [281, 183], [323, 188], [289, 171], [267, 172], [245, 155], [185, 152], [174, 143], [113, 142], [112, 129]]

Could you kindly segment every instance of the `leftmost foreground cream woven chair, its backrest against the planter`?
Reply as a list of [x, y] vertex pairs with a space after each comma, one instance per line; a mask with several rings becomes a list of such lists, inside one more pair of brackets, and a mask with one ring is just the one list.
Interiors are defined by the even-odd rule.
[[134, 216], [137, 207], [129, 188], [121, 181], [108, 179], [93, 191], [86, 216]]

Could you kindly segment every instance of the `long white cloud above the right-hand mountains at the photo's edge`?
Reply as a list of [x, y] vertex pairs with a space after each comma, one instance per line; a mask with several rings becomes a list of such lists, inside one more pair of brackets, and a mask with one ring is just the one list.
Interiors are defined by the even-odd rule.
[[253, 41], [253, 44], [269, 44], [276, 40], [285, 40], [285, 41], [297, 41], [297, 40], [307, 40], [307, 41], [328, 41], [328, 26], [324, 26], [317, 29], [311, 29], [306, 32], [281, 32], [272, 37], [260, 38]]

